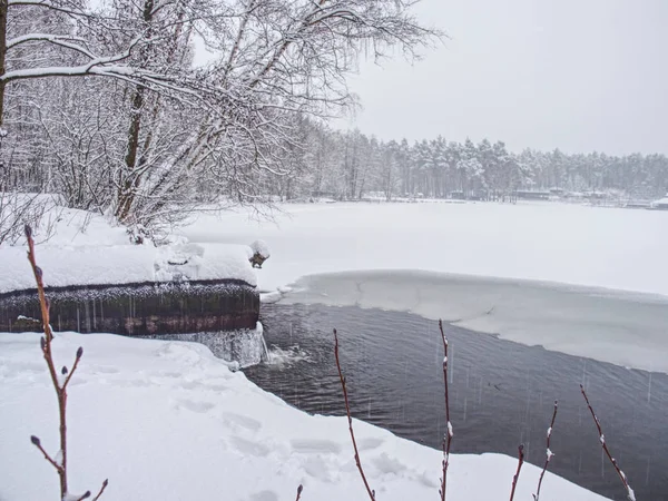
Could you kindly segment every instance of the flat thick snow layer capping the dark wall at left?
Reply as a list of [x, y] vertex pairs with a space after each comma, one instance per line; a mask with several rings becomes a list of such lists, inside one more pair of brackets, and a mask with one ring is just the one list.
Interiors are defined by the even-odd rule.
[[[35, 288], [26, 250], [0, 248], [0, 294]], [[256, 285], [250, 253], [248, 246], [232, 244], [36, 247], [45, 285], [52, 287], [226, 278]]]

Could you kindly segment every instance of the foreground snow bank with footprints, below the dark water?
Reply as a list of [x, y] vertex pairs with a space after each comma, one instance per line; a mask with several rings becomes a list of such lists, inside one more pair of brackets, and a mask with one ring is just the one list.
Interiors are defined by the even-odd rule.
[[[58, 363], [84, 358], [68, 392], [70, 490], [105, 500], [364, 499], [344, 418], [311, 416], [253, 383], [202, 345], [114, 335], [57, 334]], [[355, 397], [354, 393], [351, 395]], [[57, 406], [39, 336], [0, 334], [0, 499], [56, 497], [53, 469], [30, 444], [57, 448]], [[442, 453], [354, 422], [379, 499], [438, 498]], [[455, 423], [456, 428], [456, 423]], [[554, 451], [559, 461], [568, 451]], [[452, 455], [448, 499], [508, 498], [517, 460]], [[517, 499], [531, 499], [540, 470], [525, 464]], [[610, 480], [611, 482], [615, 479]], [[542, 501], [602, 501], [551, 473]]]

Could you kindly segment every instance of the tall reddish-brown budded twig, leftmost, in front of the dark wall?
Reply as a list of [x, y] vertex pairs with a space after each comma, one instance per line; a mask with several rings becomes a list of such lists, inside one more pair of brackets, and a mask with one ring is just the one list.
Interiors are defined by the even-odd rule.
[[[45, 336], [40, 340], [40, 347], [42, 351], [42, 355], [45, 361], [47, 362], [47, 367], [49, 369], [49, 375], [51, 376], [51, 383], [53, 383], [53, 390], [56, 390], [56, 396], [58, 397], [58, 414], [60, 422], [60, 450], [56, 459], [52, 459], [47, 451], [42, 448], [41, 441], [39, 438], [32, 435], [30, 436], [30, 442], [39, 449], [39, 451], [45, 455], [45, 459], [51, 463], [51, 465], [58, 472], [58, 477], [60, 479], [60, 499], [67, 499], [69, 497], [67, 489], [67, 386], [75, 374], [75, 371], [79, 366], [79, 361], [84, 355], [84, 348], [79, 347], [77, 350], [77, 355], [75, 358], [75, 363], [72, 364], [72, 370], [68, 371], [66, 366], [62, 367], [60, 374], [63, 379], [60, 379], [56, 371], [56, 363], [53, 362], [53, 353], [51, 351], [51, 343], [53, 341], [53, 332], [51, 331], [51, 325], [49, 322], [49, 301], [45, 294], [45, 284], [42, 279], [42, 271], [37, 265], [37, 261], [35, 258], [35, 240], [32, 238], [32, 229], [30, 226], [26, 225], [26, 238], [28, 240], [28, 261], [30, 262], [30, 266], [32, 267], [32, 273], [35, 275], [35, 282], [37, 283], [37, 294], [39, 297], [39, 304], [42, 314], [42, 324], [45, 330]], [[102, 483], [102, 488], [100, 492], [95, 498], [96, 500], [102, 494], [105, 488], [107, 487], [107, 480]], [[86, 491], [85, 494], [79, 497], [78, 499], [87, 499], [90, 497], [90, 491]]]

